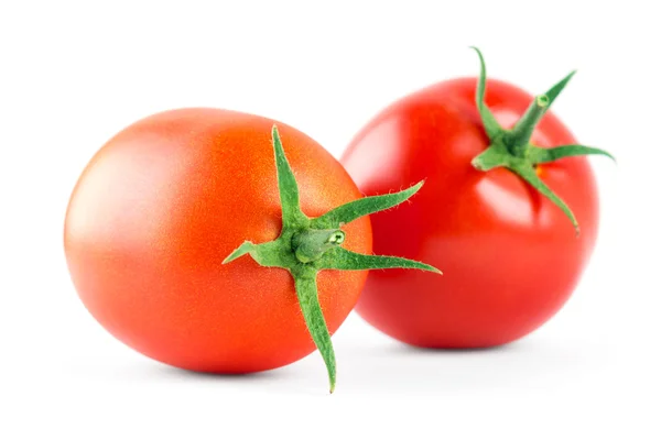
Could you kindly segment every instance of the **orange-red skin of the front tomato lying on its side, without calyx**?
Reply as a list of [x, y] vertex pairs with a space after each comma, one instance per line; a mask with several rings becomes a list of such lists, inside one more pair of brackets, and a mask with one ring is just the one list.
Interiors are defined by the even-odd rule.
[[[273, 123], [307, 216], [361, 197], [305, 134], [218, 109], [149, 117], [91, 160], [69, 201], [65, 251], [80, 299], [119, 340], [158, 361], [214, 373], [274, 369], [315, 350], [285, 270], [248, 257], [220, 264], [245, 240], [280, 233]], [[345, 248], [371, 252], [368, 218], [343, 229]], [[366, 275], [318, 275], [330, 332], [354, 308]]]

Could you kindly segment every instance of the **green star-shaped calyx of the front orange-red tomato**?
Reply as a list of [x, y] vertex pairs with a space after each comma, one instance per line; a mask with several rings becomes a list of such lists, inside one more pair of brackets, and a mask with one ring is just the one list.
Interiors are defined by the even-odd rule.
[[364, 255], [342, 248], [345, 232], [340, 229], [360, 217], [392, 208], [409, 199], [422, 187], [422, 182], [400, 193], [365, 197], [354, 200], [317, 218], [308, 218], [301, 210], [299, 185], [286, 161], [278, 129], [272, 130], [278, 188], [282, 205], [282, 231], [280, 237], [268, 243], [249, 241], [237, 248], [223, 264], [249, 254], [266, 267], [282, 267], [294, 278], [296, 296], [303, 318], [319, 350], [330, 383], [335, 389], [335, 353], [330, 333], [322, 314], [317, 296], [316, 275], [319, 271], [365, 271], [371, 268], [418, 268], [441, 273], [433, 266], [397, 256]]

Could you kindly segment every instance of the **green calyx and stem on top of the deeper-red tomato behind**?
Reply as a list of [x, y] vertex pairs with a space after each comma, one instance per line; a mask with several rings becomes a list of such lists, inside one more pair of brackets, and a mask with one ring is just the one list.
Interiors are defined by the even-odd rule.
[[555, 86], [551, 87], [544, 95], [534, 98], [530, 107], [511, 130], [506, 130], [496, 121], [494, 113], [485, 103], [485, 89], [487, 73], [485, 59], [477, 47], [473, 47], [480, 62], [480, 74], [475, 96], [485, 132], [489, 136], [490, 145], [473, 160], [473, 166], [479, 170], [487, 172], [497, 167], [506, 167], [528, 182], [533, 188], [549, 198], [570, 218], [576, 234], [578, 234], [578, 222], [570, 207], [544, 184], [537, 173], [540, 164], [557, 161], [570, 156], [584, 156], [599, 154], [615, 158], [604, 150], [585, 145], [560, 145], [552, 148], [541, 148], [530, 143], [534, 131], [542, 117], [546, 113], [555, 98], [565, 88], [570, 79], [576, 73], [572, 72]]

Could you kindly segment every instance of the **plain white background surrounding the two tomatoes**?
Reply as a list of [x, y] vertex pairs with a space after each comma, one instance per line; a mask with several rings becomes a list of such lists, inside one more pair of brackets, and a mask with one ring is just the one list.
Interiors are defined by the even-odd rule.
[[[652, 1], [0, 2], [0, 438], [660, 438], [661, 41]], [[189, 106], [280, 119], [339, 155], [380, 108], [489, 74], [584, 142], [603, 223], [583, 282], [534, 334], [421, 352], [351, 316], [318, 353], [247, 377], [185, 373], [112, 339], [66, 271], [83, 167], [127, 124]]]

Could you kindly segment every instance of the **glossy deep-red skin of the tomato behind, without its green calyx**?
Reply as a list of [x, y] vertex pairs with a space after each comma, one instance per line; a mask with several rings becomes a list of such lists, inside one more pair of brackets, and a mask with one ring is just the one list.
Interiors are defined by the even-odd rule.
[[[392, 103], [342, 158], [367, 196], [426, 179], [413, 204], [371, 216], [373, 248], [424, 261], [444, 276], [372, 271], [356, 309], [413, 345], [487, 348], [530, 333], [568, 299], [597, 237], [597, 188], [585, 157], [538, 168], [576, 215], [579, 237], [555, 205], [513, 173], [470, 165], [489, 144], [476, 82], [443, 81]], [[487, 81], [486, 103], [506, 128], [532, 99], [512, 85]], [[546, 113], [532, 142], [550, 147], [576, 140]]]

